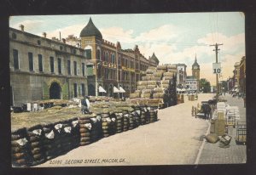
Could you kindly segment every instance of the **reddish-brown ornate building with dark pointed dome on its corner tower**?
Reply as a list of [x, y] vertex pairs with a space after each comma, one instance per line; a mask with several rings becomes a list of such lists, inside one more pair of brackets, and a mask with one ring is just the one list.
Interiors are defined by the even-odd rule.
[[88, 93], [98, 95], [99, 87], [106, 90], [107, 96], [113, 96], [113, 87], [125, 89], [125, 96], [133, 93], [136, 82], [148, 66], [157, 66], [159, 60], [153, 54], [146, 59], [138, 46], [122, 49], [120, 42], [108, 42], [90, 19], [80, 32], [81, 48], [84, 49], [90, 64], [86, 65], [88, 74]]

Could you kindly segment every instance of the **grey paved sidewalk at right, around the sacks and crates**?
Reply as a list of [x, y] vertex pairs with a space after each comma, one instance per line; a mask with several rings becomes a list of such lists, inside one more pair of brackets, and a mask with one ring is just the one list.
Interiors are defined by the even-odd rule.
[[[246, 121], [246, 108], [243, 107], [243, 99], [232, 98], [231, 95], [226, 95], [226, 104], [236, 105], [239, 107], [239, 112], [241, 119], [239, 121]], [[247, 153], [246, 145], [236, 144], [236, 128], [229, 126], [229, 133], [231, 137], [230, 148], [219, 148], [218, 144], [207, 143], [201, 152], [199, 159], [199, 164], [236, 164], [236, 163], [246, 163]]]

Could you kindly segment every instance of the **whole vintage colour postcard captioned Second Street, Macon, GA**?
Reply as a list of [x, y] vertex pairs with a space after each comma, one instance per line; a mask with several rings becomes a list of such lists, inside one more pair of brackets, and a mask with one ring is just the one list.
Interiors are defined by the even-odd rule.
[[241, 12], [9, 18], [12, 167], [247, 162]]

